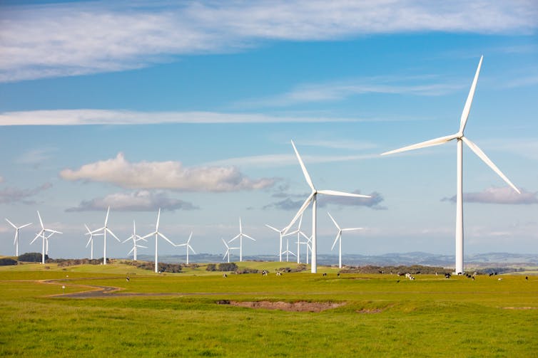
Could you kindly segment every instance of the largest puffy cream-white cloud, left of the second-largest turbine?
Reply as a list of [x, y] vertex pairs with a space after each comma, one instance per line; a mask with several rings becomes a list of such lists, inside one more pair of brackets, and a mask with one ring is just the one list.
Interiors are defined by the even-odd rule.
[[128, 189], [175, 189], [178, 191], [238, 191], [264, 189], [276, 179], [250, 179], [237, 167], [184, 167], [181, 162], [128, 162], [123, 153], [116, 158], [79, 169], [60, 172], [69, 181], [100, 181]]

